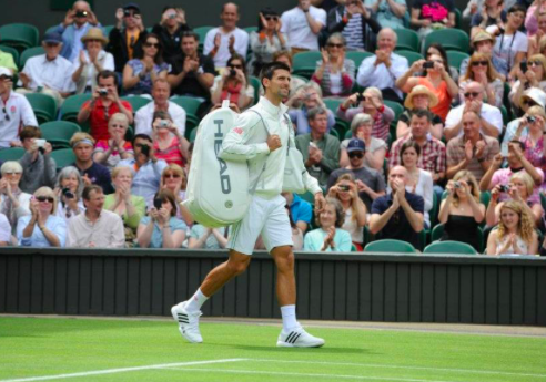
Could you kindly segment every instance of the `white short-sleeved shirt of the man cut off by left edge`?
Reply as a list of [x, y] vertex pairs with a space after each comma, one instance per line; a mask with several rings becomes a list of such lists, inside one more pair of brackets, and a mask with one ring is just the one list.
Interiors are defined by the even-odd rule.
[[6, 103], [0, 99], [0, 147], [10, 147], [11, 141], [19, 141], [22, 126], [38, 126], [38, 121], [27, 97], [11, 91]]

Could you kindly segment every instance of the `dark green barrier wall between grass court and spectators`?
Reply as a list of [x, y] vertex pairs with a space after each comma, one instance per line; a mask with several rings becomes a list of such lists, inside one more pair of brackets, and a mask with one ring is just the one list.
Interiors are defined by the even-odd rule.
[[[0, 254], [0, 312], [169, 316], [225, 252], [33, 250]], [[546, 326], [546, 259], [296, 255], [302, 319]], [[280, 317], [275, 268], [256, 254], [206, 316]]]

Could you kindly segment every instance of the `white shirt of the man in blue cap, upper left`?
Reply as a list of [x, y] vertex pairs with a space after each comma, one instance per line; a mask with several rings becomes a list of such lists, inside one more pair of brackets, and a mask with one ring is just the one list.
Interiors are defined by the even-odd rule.
[[[75, 83], [72, 81], [74, 68], [72, 63], [61, 55], [49, 61], [46, 54], [30, 58], [22, 73], [27, 74], [32, 81], [29, 84], [31, 90], [38, 86], [48, 86], [58, 92], [74, 92]], [[22, 85], [21, 81], [18, 82]]]

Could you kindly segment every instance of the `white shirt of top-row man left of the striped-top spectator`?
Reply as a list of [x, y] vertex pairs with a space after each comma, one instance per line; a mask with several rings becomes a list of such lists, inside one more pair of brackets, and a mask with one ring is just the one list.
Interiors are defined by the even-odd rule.
[[[326, 25], [326, 11], [311, 6], [309, 13], [323, 27]], [[290, 48], [318, 50], [318, 34], [313, 33], [307, 17], [301, 8], [293, 8], [281, 16], [281, 32], [284, 33]]]

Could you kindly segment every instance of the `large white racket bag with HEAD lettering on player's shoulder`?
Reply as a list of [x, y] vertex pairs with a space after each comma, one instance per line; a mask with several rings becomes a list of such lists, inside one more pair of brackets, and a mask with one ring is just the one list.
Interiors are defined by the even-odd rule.
[[183, 205], [205, 227], [224, 227], [241, 220], [251, 203], [246, 162], [219, 157], [222, 142], [236, 118], [229, 102], [224, 102], [198, 127]]

